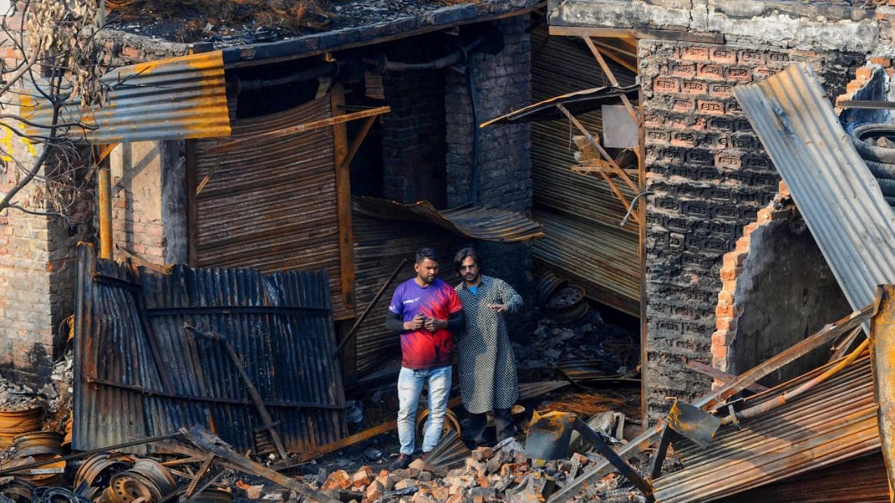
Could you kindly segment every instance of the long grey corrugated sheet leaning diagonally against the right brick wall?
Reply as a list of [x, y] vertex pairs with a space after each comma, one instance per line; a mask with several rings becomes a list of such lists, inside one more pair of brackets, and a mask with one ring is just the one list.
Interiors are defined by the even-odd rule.
[[734, 93], [854, 309], [895, 283], [895, 214], [833, 113], [814, 70], [797, 64]]

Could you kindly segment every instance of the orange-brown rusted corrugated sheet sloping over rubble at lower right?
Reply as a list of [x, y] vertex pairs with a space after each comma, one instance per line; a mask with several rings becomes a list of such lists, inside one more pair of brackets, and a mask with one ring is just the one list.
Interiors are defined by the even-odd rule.
[[[757, 405], [826, 366], [746, 400]], [[658, 503], [714, 501], [880, 450], [870, 357], [865, 354], [786, 405], [721, 427], [708, 448], [676, 445], [684, 469], [653, 481]], [[883, 475], [884, 476], [884, 475]]]

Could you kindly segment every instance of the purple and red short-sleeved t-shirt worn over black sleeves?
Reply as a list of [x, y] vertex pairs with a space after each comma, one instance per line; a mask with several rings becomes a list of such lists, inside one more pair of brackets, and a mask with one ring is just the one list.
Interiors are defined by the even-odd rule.
[[[439, 278], [423, 288], [412, 278], [398, 285], [388, 311], [413, 320], [422, 312], [427, 318], [447, 320], [463, 309], [453, 288]], [[451, 364], [451, 333], [447, 328], [430, 332], [426, 328], [401, 332], [401, 365], [408, 369], [431, 369]]]

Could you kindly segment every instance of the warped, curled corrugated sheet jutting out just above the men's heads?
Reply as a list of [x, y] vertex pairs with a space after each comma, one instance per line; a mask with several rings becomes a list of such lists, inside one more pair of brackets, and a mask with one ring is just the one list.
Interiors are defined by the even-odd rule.
[[393, 200], [355, 197], [354, 213], [387, 220], [435, 224], [454, 234], [496, 243], [518, 243], [543, 237], [541, 226], [516, 211], [470, 208], [439, 211], [429, 201], [402, 204]]

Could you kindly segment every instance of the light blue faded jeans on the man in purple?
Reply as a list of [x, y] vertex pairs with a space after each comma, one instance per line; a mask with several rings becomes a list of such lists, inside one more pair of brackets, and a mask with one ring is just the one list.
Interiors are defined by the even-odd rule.
[[411, 455], [415, 448], [413, 423], [416, 420], [416, 406], [420, 404], [422, 385], [429, 380], [429, 418], [422, 436], [422, 452], [429, 452], [441, 439], [441, 429], [445, 423], [447, 396], [450, 394], [451, 368], [438, 367], [414, 371], [401, 367], [397, 376], [397, 438], [401, 441], [401, 454]]

